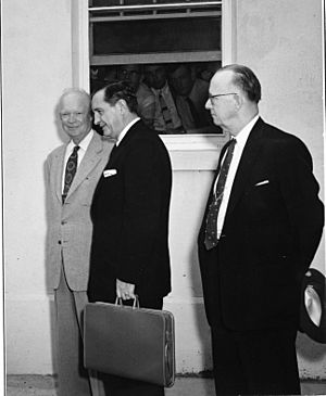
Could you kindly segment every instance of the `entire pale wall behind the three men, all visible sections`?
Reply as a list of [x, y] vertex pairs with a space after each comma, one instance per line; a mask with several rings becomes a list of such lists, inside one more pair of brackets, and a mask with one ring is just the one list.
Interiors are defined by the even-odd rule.
[[[236, 2], [235, 61], [256, 71], [263, 86], [263, 116], [306, 142], [323, 187], [319, 1]], [[4, 0], [2, 20], [8, 372], [52, 373], [53, 310], [45, 269], [42, 166], [61, 142], [54, 105], [72, 84], [71, 1]], [[198, 372], [212, 363], [196, 237], [217, 151], [175, 150], [172, 159], [173, 293], [165, 308], [176, 317], [177, 371]], [[325, 268], [324, 243], [314, 265]], [[304, 336], [299, 341], [301, 374], [325, 378], [323, 349]]]

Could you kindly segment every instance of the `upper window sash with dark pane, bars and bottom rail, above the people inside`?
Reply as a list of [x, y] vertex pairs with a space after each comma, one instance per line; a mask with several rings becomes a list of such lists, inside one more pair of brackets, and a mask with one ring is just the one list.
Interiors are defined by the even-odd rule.
[[221, 61], [222, 1], [90, 0], [90, 64]]

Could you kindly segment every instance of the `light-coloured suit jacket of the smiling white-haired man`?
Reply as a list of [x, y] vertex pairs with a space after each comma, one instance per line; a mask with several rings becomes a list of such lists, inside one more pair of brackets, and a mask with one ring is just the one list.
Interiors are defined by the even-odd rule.
[[53, 289], [59, 286], [63, 263], [70, 288], [87, 290], [92, 234], [90, 204], [111, 149], [111, 143], [93, 133], [64, 204], [62, 174], [66, 145], [59, 146], [47, 158], [47, 268]]

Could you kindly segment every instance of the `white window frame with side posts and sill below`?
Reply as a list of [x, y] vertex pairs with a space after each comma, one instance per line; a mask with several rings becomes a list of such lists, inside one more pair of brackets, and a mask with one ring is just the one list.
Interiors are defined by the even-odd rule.
[[[90, 66], [88, 17], [88, 0], [72, 0], [72, 81], [74, 87], [86, 90], [89, 90]], [[236, 61], [236, 0], [223, 0], [222, 65]], [[153, 62], [159, 59], [151, 58]], [[161, 138], [171, 153], [174, 169], [208, 170], [215, 167], [216, 151], [220, 152], [229, 136], [163, 135]]]

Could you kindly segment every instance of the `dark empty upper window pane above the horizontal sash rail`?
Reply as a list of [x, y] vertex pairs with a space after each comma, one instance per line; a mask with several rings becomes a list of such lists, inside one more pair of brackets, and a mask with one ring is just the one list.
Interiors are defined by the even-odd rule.
[[95, 23], [93, 55], [221, 50], [221, 18]]

